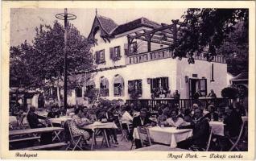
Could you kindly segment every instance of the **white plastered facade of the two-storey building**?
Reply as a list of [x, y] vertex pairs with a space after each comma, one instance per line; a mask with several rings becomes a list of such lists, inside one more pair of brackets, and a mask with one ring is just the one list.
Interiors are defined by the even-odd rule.
[[[95, 88], [101, 88], [101, 79], [104, 77], [107, 79], [109, 95], [105, 98], [109, 100], [121, 98], [122, 100], [130, 99], [128, 93], [128, 81], [142, 80], [142, 96], [140, 99], [151, 99], [151, 81], [149, 79], [168, 77], [168, 87], [171, 93], [178, 90], [180, 98], [188, 99], [191, 95], [190, 91], [196, 90], [200, 79], [204, 79], [206, 82], [205, 92], [209, 93], [211, 89], [217, 94], [217, 97], [221, 97], [221, 89], [227, 86], [227, 64], [225, 61], [209, 62], [204, 58], [196, 59], [195, 64], [188, 64], [188, 59], [183, 58], [171, 58], [171, 52], [166, 51], [163, 57], [159, 56], [162, 52], [156, 52], [155, 58], [149, 58], [151, 53], [147, 53], [147, 41], [140, 39], [134, 39], [138, 45], [138, 54], [136, 56], [126, 56], [125, 44], [128, 43], [127, 35], [142, 31], [143, 29], [151, 30], [149, 27], [138, 27], [131, 31], [126, 31], [119, 35], [114, 35], [110, 39], [110, 42], [101, 38], [101, 29], [97, 31], [94, 38], [97, 39], [97, 44], [92, 47], [93, 55], [101, 50], [105, 51], [105, 62], [97, 64], [97, 72], [93, 72], [93, 81]], [[120, 46], [120, 60], [111, 60], [110, 47]], [[159, 43], [151, 43], [151, 52], [157, 49], [166, 47]], [[142, 56], [142, 57], [141, 57]], [[147, 59], [146, 59], [147, 58]], [[223, 58], [221, 57], [223, 60]], [[115, 76], [122, 76], [124, 81], [124, 89], [122, 96], [114, 96], [114, 79]], [[192, 80], [192, 81], [190, 81]], [[214, 80], [214, 81], [213, 81]], [[192, 89], [192, 82], [194, 82], [195, 89]], [[205, 83], [204, 83], [205, 84]], [[200, 87], [202, 88], [202, 87]], [[83, 93], [85, 88], [83, 88]]]

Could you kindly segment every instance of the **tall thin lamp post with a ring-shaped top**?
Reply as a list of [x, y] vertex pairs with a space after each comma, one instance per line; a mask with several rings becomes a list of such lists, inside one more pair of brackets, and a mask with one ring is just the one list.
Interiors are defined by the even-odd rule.
[[67, 8], [64, 13], [56, 14], [56, 19], [64, 20], [64, 108], [67, 109], [67, 84], [68, 84], [68, 62], [67, 62], [67, 41], [68, 41], [68, 20], [76, 19], [75, 14], [68, 14]]

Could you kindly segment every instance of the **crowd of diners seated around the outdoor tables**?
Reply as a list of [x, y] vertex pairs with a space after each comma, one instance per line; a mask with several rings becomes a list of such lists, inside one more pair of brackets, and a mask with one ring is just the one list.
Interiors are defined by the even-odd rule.
[[[234, 108], [235, 107], [235, 108]], [[87, 107], [78, 107], [72, 109], [74, 114], [71, 117], [70, 129], [73, 134], [82, 134], [85, 140], [89, 140], [92, 136], [92, 130], [86, 130], [81, 127], [85, 125], [92, 124], [93, 122], [115, 122], [119, 124], [120, 119], [122, 121], [130, 122], [132, 124], [132, 129], [128, 134], [128, 138], [134, 140], [136, 148], [142, 147], [142, 144], [139, 139], [133, 138], [134, 128], [138, 126], [151, 127], [151, 126], [160, 126], [160, 127], [175, 127], [176, 129], [192, 129], [192, 136], [181, 141], [177, 142], [177, 147], [183, 149], [189, 149], [189, 147], [196, 146], [204, 148], [209, 139], [209, 122], [218, 121], [225, 124], [225, 137], [218, 137], [221, 139], [222, 148], [227, 150], [229, 148], [229, 143], [226, 137], [236, 137], [242, 125], [242, 109], [237, 108], [237, 105], [229, 105], [225, 108], [218, 108], [214, 105], [209, 105], [207, 109], [204, 107], [193, 104], [191, 109], [177, 109], [175, 106], [170, 105], [159, 105], [156, 111], [156, 118], [151, 118], [151, 113], [146, 107], [138, 108], [136, 105], [127, 103], [124, 105], [98, 105], [97, 107], [93, 105], [91, 107], [94, 110], [94, 113], [89, 113]], [[225, 109], [225, 110], [223, 110]], [[35, 114], [35, 107], [31, 107], [27, 113], [27, 122], [30, 128], [42, 128], [49, 126], [47, 120], [50, 118], [59, 118], [62, 115], [66, 116], [67, 111], [63, 108], [58, 109], [56, 106], [53, 106], [52, 109], [48, 112], [47, 117], [40, 116]], [[22, 112], [17, 115], [17, 118], [23, 114]], [[46, 120], [42, 123], [39, 119]], [[54, 123], [53, 126], [60, 126], [58, 123]], [[123, 123], [122, 129], [128, 129], [126, 123]], [[117, 129], [108, 129], [106, 130], [107, 139], [114, 138], [114, 143], [118, 144]], [[42, 144], [47, 144], [52, 142], [52, 133], [41, 134]]]

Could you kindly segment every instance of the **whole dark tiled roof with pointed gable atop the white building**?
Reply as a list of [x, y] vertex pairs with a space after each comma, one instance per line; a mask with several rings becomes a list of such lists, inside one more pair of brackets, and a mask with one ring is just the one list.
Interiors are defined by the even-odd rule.
[[126, 31], [134, 30], [138, 27], [151, 27], [151, 28], [158, 28], [162, 27], [159, 23], [155, 23], [147, 18], [140, 18], [130, 21], [129, 23], [124, 23], [122, 25], [118, 25], [114, 22], [113, 19], [109, 19], [105, 16], [101, 16], [96, 14], [95, 19], [93, 21], [93, 27], [89, 34], [89, 39], [93, 39], [95, 35], [95, 31], [98, 30], [97, 27], [101, 27], [101, 37], [111, 37], [114, 35], [122, 34]]

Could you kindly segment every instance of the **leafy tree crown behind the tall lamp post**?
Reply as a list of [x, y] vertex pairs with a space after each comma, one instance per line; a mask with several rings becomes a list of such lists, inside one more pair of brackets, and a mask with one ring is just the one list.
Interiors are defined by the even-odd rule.
[[[68, 73], [93, 68], [89, 49], [88, 39], [68, 23]], [[21, 80], [21, 84], [27, 82], [35, 88], [63, 81], [64, 27], [57, 21], [53, 26], [41, 24], [35, 28], [32, 44], [25, 41], [18, 47], [10, 47], [10, 58], [11, 80]]]

